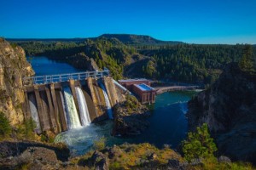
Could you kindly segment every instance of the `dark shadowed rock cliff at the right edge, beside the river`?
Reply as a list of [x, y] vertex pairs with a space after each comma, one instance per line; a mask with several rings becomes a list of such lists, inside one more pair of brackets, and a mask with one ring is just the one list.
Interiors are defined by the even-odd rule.
[[190, 130], [207, 122], [219, 154], [256, 163], [256, 77], [236, 63], [189, 101], [187, 116]]

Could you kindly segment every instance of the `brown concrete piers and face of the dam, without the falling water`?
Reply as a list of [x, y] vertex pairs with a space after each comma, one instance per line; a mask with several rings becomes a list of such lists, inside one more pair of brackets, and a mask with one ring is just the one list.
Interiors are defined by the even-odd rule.
[[111, 77], [104, 77], [102, 80], [96, 80], [89, 77], [85, 83], [83, 81], [83, 86], [81, 86], [80, 82], [73, 80], [48, 85], [34, 85], [33, 87], [24, 88], [25, 102], [22, 107], [25, 111], [25, 116], [26, 118], [31, 117], [29, 99], [27, 96], [27, 93], [29, 92], [35, 95], [42, 131], [50, 130], [53, 133], [67, 131], [67, 122], [64, 115], [65, 111], [61, 103], [61, 87], [69, 86], [71, 88], [73, 99], [77, 111], [79, 112], [79, 102], [75, 92], [75, 87], [79, 86], [84, 93], [86, 104], [90, 112], [90, 120], [92, 122], [97, 122], [108, 119], [106, 101], [102, 88], [99, 87], [98, 82], [102, 82], [107, 89], [108, 98], [112, 106], [125, 99], [123, 94], [120, 94], [121, 97], [119, 97], [119, 91], [113, 84]]

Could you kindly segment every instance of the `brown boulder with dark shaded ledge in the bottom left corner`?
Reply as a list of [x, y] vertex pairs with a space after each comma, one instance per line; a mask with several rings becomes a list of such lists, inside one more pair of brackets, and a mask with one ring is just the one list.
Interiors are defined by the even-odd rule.
[[70, 151], [64, 144], [1, 142], [0, 169], [59, 169]]

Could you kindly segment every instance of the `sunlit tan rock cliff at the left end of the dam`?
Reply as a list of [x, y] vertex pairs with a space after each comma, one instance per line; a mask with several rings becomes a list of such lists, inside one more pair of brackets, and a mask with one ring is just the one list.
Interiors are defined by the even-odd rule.
[[12, 125], [23, 121], [21, 103], [24, 102], [22, 77], [34, 74], [26, 61], [22, 48], [11, 46], [0, 38], [0, 112], [3, 112]]

